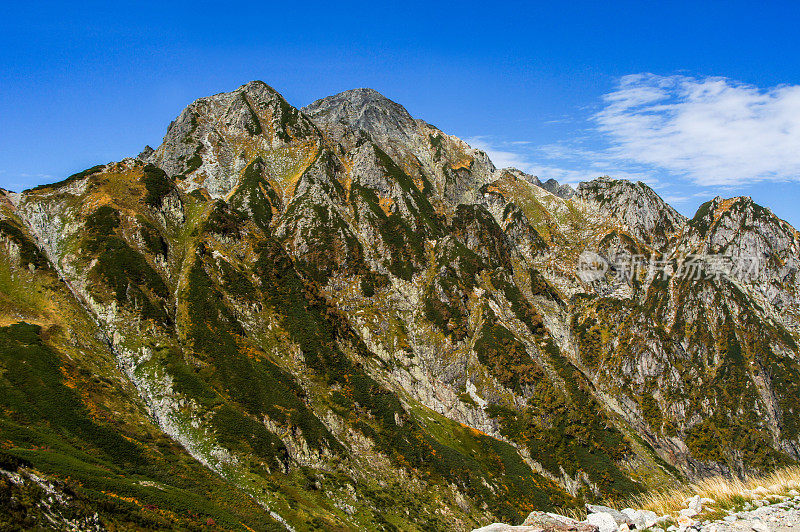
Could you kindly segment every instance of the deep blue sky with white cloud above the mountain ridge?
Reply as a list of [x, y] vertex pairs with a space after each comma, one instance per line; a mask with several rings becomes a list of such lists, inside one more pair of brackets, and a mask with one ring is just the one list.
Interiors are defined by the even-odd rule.
[[298, 107], [372, 87], [498, 166], [642, 179], [687, 215], [750, 195], [800, 227], [796, 2], [22, 4], [0, 6], [5, 188], [262, 79]]

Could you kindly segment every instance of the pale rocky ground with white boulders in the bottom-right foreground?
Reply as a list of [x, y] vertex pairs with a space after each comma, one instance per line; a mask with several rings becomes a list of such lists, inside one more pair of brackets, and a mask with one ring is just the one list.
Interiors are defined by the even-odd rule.
[[[743, 493], [738, 504], [718, 504], [711, 498], [687, 499], [676, 515], [661, 515], [649, 510], [587, 505], [587, 517], [578, 521], [545, 512], [531, 512], [517, 526], [493, 523], [473, 532], [629, 532], [666, 530], [668, 532], [787, 532], [800, 530], [800, 492], [758, 487]], [[749, 500], [748, 500], [749, 499]], [[746, 502], [743, 502], [746, 501]]]

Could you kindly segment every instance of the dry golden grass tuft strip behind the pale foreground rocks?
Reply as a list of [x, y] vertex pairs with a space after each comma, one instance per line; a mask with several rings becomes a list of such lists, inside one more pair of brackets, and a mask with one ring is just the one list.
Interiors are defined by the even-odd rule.
[[652, 510], [659, 515], [676, 515], [686, 508], [686, 500], [699, 495], [713, 499], [708, 506], [723, 510], [743, 505], [754, 499], [770, 496], [785, 496], [790, 490], [800, 491], [800, 467], [792, 466], [768, 475], [745, 480], [712, 477], [681, 487], [652, 490], [623, 501], [614, 506]]

